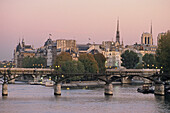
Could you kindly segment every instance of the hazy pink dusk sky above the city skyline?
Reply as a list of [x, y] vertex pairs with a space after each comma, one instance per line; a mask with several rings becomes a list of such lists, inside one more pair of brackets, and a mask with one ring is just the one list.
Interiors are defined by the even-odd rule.
[[[34, 48], [52, 39], [78, 44], [116, 40], [119, 18], [124, 45], [140, 43], [150, 32], [170, 30], [170, 0], [0, 0], [0, 60], [11, 60], [24, 38]], [[90, 41], [88, 39], [91, 39]]]

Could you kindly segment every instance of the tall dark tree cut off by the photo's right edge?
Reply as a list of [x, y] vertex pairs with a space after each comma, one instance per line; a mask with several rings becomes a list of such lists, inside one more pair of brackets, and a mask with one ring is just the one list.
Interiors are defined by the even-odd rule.
[[170, 32], [162, 36], [159, 40], [156, 61], [159, 65], [158, 68], [163, 67], [162, 71], [170, 74]]

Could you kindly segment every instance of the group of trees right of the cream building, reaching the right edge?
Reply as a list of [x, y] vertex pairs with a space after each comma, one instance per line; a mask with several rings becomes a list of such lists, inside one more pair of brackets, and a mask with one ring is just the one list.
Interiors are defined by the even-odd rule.
[[125, 51], [122, 55], [122, 66], [127, 69], [134, 68], [159, 68], [162, 72], [170, 74], [170, 32], [162, 36], [159, 40], [156, 55], [145, 54], [142, 62], [139, 63], [137, 53], [133, 51]]

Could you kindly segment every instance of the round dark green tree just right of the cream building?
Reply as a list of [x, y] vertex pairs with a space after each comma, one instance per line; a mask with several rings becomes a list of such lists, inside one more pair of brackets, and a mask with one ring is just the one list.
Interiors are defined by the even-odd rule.
[[139, 62], [139, 57], [137, 53], [133, 51], [126, 50], [122, 55], [122, 66], [126, 67], [127, 69], [134, 69]]

